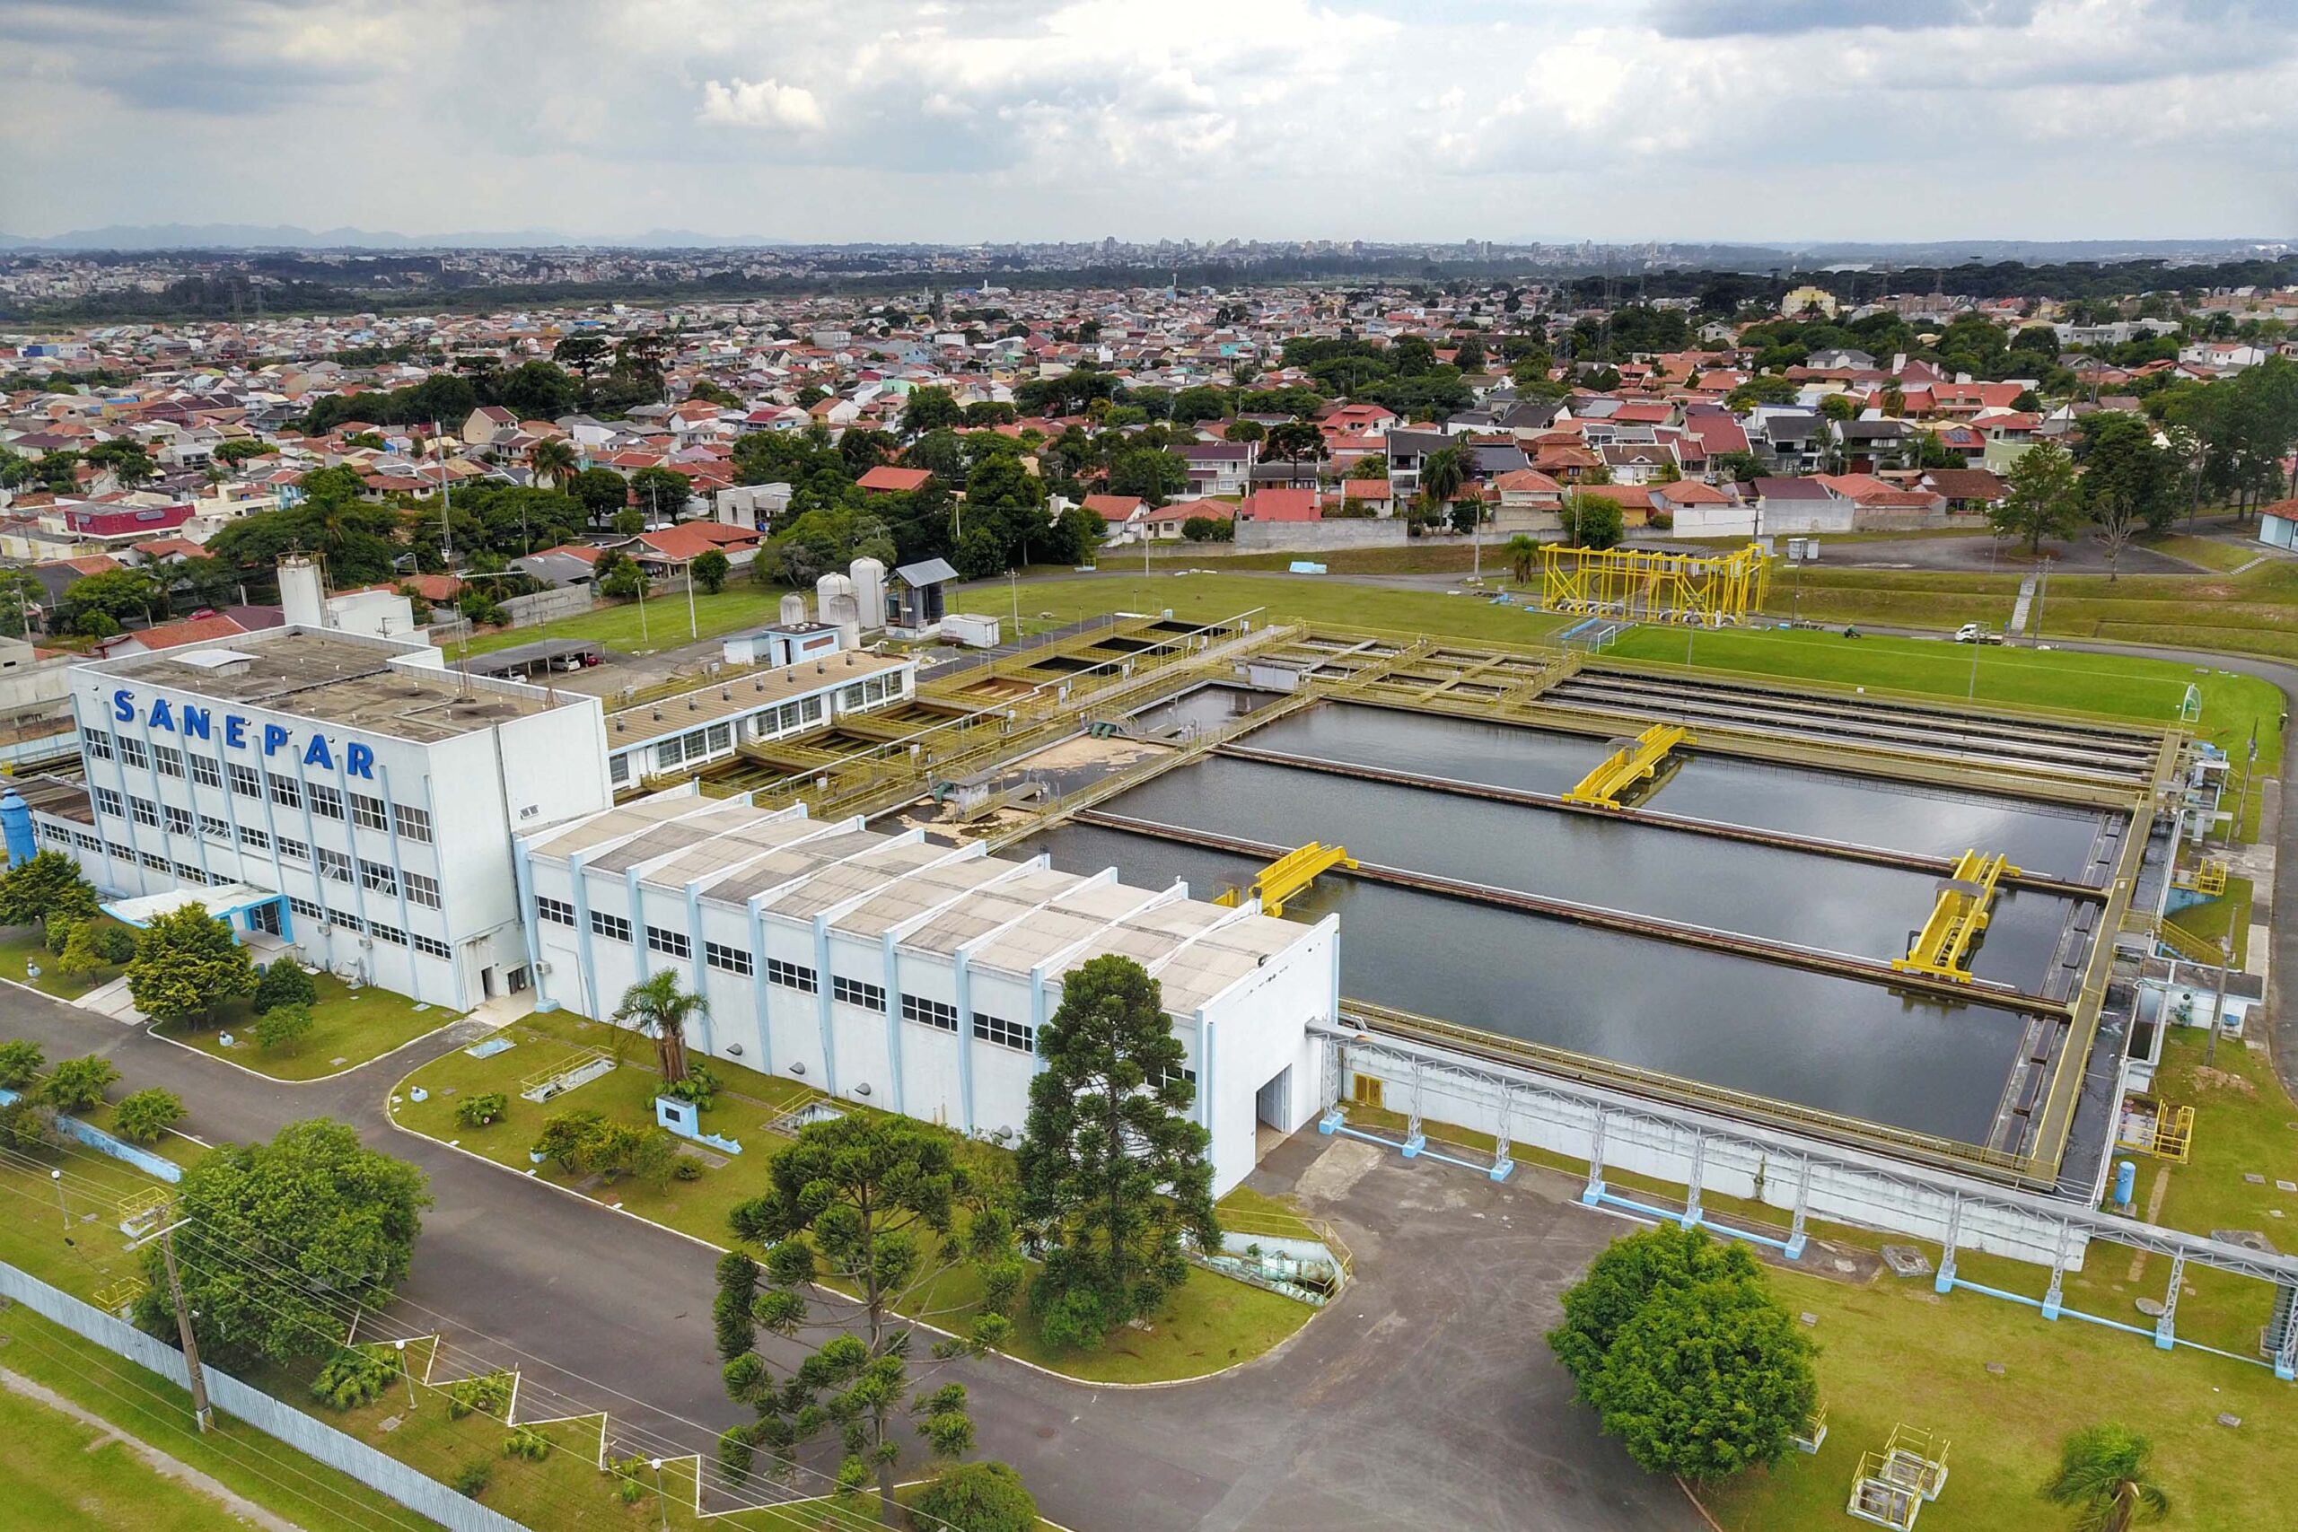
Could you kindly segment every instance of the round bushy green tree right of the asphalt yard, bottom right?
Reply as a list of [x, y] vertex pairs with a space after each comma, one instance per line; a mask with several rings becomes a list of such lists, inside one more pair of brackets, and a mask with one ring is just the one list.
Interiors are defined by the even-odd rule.
[[1613, 1240], [1563, 1307], [1549, 1346], [1574, 1396], [1652, 1472], [1779, 1463], [1818, 1408], [1811, 1337], [1744, 1245], [1645, 1229]]

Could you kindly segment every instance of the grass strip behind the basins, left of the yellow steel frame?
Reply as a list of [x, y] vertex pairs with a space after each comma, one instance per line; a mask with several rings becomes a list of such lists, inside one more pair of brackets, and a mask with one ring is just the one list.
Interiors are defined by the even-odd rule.
[[[1498, 563], [1491, 565], [1501, 574]], [[1524, 606], [1491, 606], [1473, 595], [1441, 590], [1397, 590], [1344, 579], [1303, 574], [1296, 579], [1262, 579], [1252, 574], [1140, 574], [1124, 579], [1057, 579], [1027, 586], [1020, 593], [1025, 613], [1046, 613], [1059, 622], [1105, 611], [1165, 611], [1195, 622], [1234, 618], [1255, 606], [1271, 622], [1319, 622], [1326, 627], [1370, 627], [1393, 634], [1443, 634], [1452, 639], [1496, 639], [1540, 643], [1565, 627], [1565, 618]]]

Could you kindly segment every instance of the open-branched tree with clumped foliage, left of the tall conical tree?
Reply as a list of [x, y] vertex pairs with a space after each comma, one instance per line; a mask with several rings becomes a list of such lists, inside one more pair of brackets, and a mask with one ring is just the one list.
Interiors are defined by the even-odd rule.
[[[1011, 1220], [986, 1197], [958, 1158], [947, 1130], [905, 1116], [855, 1114], [813, 1123], [768, 1162], [768, 1190], [733, 1208], [735, 1236], [768, 1252], [763, 1291], [749, 1302], [754, 1332], [795, 1334], [809, 1323], [811, 1302], [848, 1309], [857, 1330], [834, 1337], [786, 1376], [774, 1378], [756, 1351], [724, 1367], [726, 1392], [756, 1410], [756, 1422], [722, 1440], [722, 1461], [747, 1470], [758, 1447], [777, 1465], [827, 1426], [839, 1426], [846, 1459], [839, 1488], [878, 1486], [878, 1507], [894, 1523], [894, 1465], [901, 1456], [899, 1417], [917, 1422], [933, 1456], [958, 1459], [972, 1449], [974, 1426], [965, 1390], [910, 1394], [910, 1339], [901, 1323], [933, 1321], [928, 1286], [942, 1272], [972, 1263], [984, 1305], [963, 1339], [933, 1348], [940, 1360], [988, 1351], [1011, 1332], [1004, 1309], [1020, 1289], [1020, 1256]], [[958, 1227], [961, 1206], [970, 1213]], [[756, 1272], [722, 1263], [724, 1312]], [[841, 1293], [853, 1293], [843, 1298]], [[944, 1314], [947, 1316], [947, 1314]], [[719, 1334], [731, 1351], [733, 1323]]]

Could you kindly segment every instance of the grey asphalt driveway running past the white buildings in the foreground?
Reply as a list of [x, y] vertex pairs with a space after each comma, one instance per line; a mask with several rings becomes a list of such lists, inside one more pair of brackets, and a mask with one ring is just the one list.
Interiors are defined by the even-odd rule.
[[[317, 1114], [354, 1123], [432, 1181], [404, 1298], [492, 1362], [522, 1364], [529, 1408], [549, 1387], [703, 1449], [731, 1424], [710, 1341], [712, 1252], [388, 1125], [391, 1082], [464, 1038], [285, 1086], [18, 988], [0, 990], [0, 1036], [51, 1057], [110, 1054], [129, 1084], [182, 1093], [209, 1139]], [[1048, 1516], [1080, 1532], [1333, 1532], [1397, 1525], [1402, 1507], [1462, 1530], [1698, 1525], [1673, 1481], [1636, 1470], [1570, 1406], [1540, 1339], [1558, 1291], [1620, 1229], [1574, 1204], [1567, 1181], [1521, 1169], [1496, 1187], [1305, 1132], [1255, 1183], [1298, 1185], [1363, 1275], [1273, 1357], [1172, 1390], [1075, 1385], [1002, 1360], [958, 1369], [984, 1454], [1016, 1463]], [[430, 1325], [414, 1309], [395, 1318]]]

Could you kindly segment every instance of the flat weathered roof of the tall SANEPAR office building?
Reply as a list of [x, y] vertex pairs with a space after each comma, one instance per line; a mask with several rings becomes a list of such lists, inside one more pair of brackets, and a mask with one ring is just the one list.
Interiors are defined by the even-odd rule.
[[370, 735], [434, 744], [478, 733], [506, 719], [529, 719], [591, 698], [542, 691], [469, 687], [450, 671], [393, 666], [411, 650], [361, 643], [342, 634], [271, 629], [232, 634], [221, 643], [186, 643], [159, 655], [106, 659], [94, 668], [124, 682], [292, 712], [317, 724], [340, 724]]

